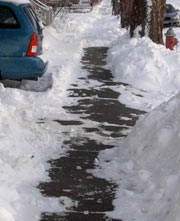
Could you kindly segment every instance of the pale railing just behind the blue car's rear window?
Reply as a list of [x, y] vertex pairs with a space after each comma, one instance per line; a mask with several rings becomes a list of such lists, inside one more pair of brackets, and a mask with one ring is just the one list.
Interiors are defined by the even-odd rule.
[[30, 0], [32, 7], [43, 25], [50, 25], [53, 22], [53, 9], [39, 0]]

